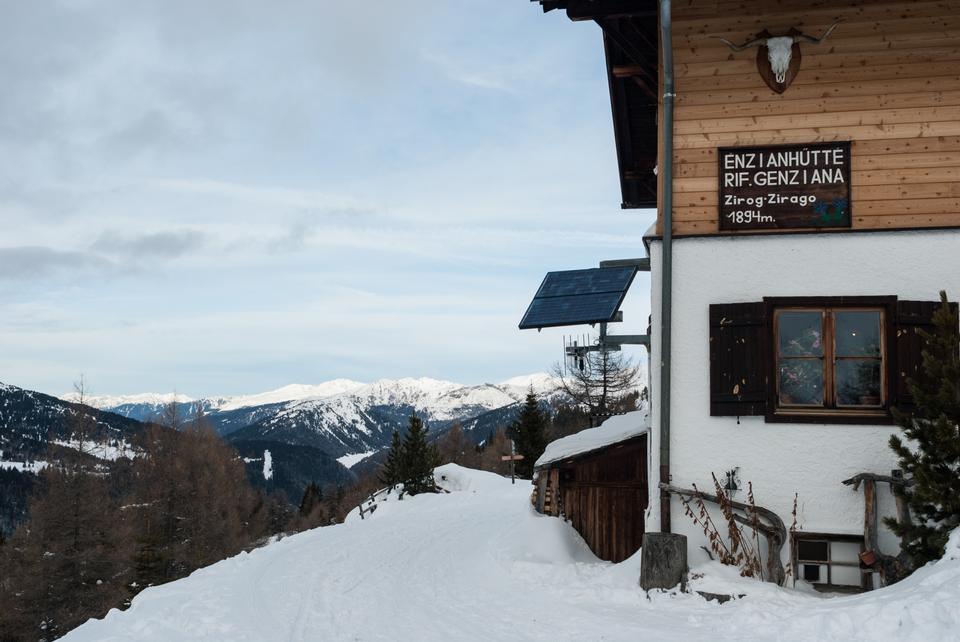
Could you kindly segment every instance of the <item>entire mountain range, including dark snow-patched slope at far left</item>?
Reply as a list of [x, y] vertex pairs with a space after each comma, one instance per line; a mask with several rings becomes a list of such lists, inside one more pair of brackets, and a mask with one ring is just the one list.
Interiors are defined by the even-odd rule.
[[479, 443], [513, 420], [531, 388], [545, 404], [562, 398], [547, 374], [473, 386], [429, 378], [335, 379], [233, 397], [85, 396], [86, 406], [76, 393], [53, 397], [0, 384], [0, 532], [22, 519], [49, 449], [77, 448], [71, 422], [78, 413], [95, 418], [103, 445], [93, 455], [102, 459], [135, 454], [136, 434], [147, 423], [167, 423], [171, 409], [184, 424], [202, 414], [238, 451], [253, 484], [296, 504], [311, 481], [346, 485], [355, 479], [351, 468], [375, 466], [411, 413], [434, 436], [459, 422]]

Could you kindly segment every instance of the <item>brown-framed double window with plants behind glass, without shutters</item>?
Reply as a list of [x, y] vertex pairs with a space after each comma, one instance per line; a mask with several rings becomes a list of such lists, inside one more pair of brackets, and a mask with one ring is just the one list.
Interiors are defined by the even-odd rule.
[[882, 412], [882, 308], [774, 309], [776, 408]]

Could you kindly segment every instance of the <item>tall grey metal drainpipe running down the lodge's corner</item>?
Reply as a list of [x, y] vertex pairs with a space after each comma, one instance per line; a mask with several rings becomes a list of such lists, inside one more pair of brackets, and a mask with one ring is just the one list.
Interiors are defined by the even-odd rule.
[[[660, 0], [663, 50], [663, 257], [660, 273], [660, 481], [670, 483], [670, 327], [673, 287], [673, 39], [670, 0]], [[670, 532], [670, 493], [660, 491], [660, 531]]]

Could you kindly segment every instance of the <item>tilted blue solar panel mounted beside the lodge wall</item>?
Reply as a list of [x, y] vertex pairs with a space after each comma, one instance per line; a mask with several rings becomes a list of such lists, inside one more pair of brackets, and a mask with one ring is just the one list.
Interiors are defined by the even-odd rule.
[[636, 273], [633, 266], [548, 272], [520, 329], [613, 321]]

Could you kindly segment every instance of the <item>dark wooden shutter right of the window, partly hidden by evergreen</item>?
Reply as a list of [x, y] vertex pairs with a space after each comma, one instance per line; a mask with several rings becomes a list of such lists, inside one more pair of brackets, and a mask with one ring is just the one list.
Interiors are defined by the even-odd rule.
[[[951, 303], [956, 308], [956, 303]], [[918, 379], [923, 368], [923, 348], [926, 344], [920, 330], [933, 332], [933, 313], [939, 301], [897, 301], [897, 319], [893, 338], [894, 373], [890, 387], [890, 405], [901, 412], [911, 413], [915, 408], [907, 379]], [[888, 370], [889, 372], [889, 370]]]

